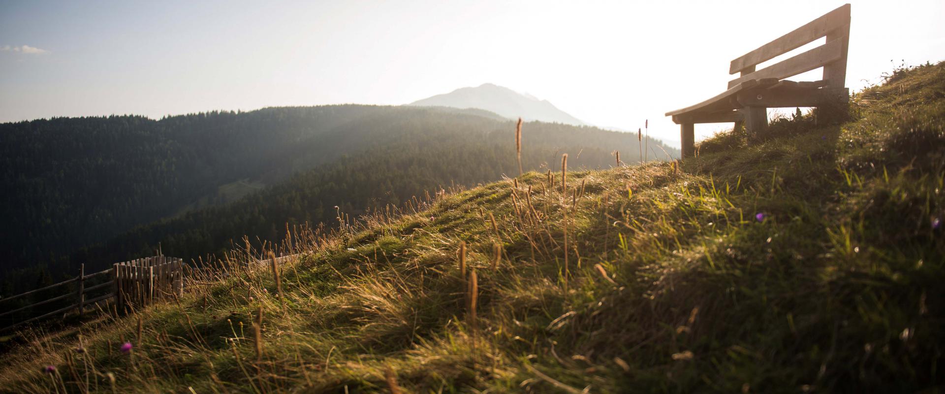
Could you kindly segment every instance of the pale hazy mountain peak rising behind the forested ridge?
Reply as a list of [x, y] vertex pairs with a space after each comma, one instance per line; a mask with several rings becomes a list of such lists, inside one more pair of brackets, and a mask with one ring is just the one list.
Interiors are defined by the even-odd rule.
[[505, 86], [489, 82], [476, 87], [459, 88], [447, 94], [437, 94], [407, 105], [460, 109], [476, 108], [492, 111], [509, 119], [522, 117], [524, 120], [557, 122], [576, 126], [587, 125], [569, 113], [558, 110], [548, 100], [541, 100], [531, 94], [518, 93]]

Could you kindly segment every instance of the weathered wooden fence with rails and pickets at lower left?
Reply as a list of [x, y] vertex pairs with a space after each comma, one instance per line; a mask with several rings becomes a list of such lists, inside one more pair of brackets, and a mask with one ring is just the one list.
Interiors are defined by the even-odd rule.
[[[180, 293], [183, 291], [182, 268], [183, 261], [181, 259], [166, 256], [154, 256], [145, 259], [132, 260], [129, 262], [116, 263], [112, 266], [112, 268], [89, 275], [85, 274], [85, 265], [83, 264], [79, 267], [78, 275], [75, 278], [68, 279], [60, 283], [50, 284], [43, 288], [30, 290], [26, 293], [0, 299], [0, 304], [3, 304], [10, 300], [19, 300], [26, 296], [41, 294], [44, 291], [61, 289], [58, 296], [5, 311], [0, 313], [0, 318], [13, 316], [19, 312], [35, 310], [35, 308], [38, 306], [60, 300], [73, 299], [76, 300], [76, 303], [61, 307], [55, 311], [44, 313], [43, 315], [37, 317], [28, 317], [24, 320], [13, 322], [0, 329], [0, 331], [6, 331], [49, 317], [55, 317], [59, 315], [65, 317], [67, 314], [73, 311], [76, 311], [77, 315], [81, 317], [86, 307], [94, 306], [94, 304], [103, 301], [107, 302], [108, 300], [114, 300], [115, 305], [120, 306], [121, 309], [124, 310], [128, 307], [144, 306], [153, 300], [161, 300], [171, 294], [180, 295]], [[102, 277], [107, 278], [107, 281], [91, 286], [85, 285], [87, 281]], [[63, 288], [63, 286], [70, 283], [77, 283], [75, 290]], [[87, 299], [88, 294], [103, 288], [108, 288], [111, 291], [107, 294], [94, 297], [92, 299]]]

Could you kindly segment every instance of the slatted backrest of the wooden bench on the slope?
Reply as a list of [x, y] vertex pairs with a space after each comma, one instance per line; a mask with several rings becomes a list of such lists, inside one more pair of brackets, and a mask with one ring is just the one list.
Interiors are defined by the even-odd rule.
[[[755, 71], [755, 66], [787, 52], [827, 37], [827, 43], [793, 58]], [[781, 38], [765, 43], [744, 56], [731, 60], [729, 74], [741, 73], [729, 81], [729, 89], [748, 79], [796, 76], [817, 67], [824, 68], [826, 86], [842, 88], [847, 78], [847, 47], [850, 43], [850, 5], [845, 4], [825, 15], [800, 26]]]

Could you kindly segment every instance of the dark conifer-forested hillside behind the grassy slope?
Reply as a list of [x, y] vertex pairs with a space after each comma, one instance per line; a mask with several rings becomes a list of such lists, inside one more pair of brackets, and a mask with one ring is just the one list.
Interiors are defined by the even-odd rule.
[[[134, 257], [157, 242], [182, 257], [218, 251], [231, 238], [265, 236], [285, 222], [333, 219], [334, 209], [325, 207], [356, 214], [371, 201], [400, 203], [451, 181], [513, 174], [513, 142], [514, 124], [489, 112], [412, 107], [3, 124], [0, 174], [10, 192], [0, 197], [6, 220], [0, 258], [9, 270]], [[663, 156], [656, 143], [650, 146]], [[638, 160], [635, 136], [524, 126], [526, 168], [553, 163], [562, 152], [572, 153], [573, 165], [607, 166], [614, 149], [625, 162]], [[264, 189], [273, 184], [280, 185]], [[203, 209], [210, 206], [218, 208]], [[115, 248], [101, 246], [109, 240]], [[79, 248], [91, 251], [73, 254]]]

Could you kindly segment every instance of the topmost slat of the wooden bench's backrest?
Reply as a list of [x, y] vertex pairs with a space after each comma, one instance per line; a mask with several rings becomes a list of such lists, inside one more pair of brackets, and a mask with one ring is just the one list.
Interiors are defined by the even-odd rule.
[[794, 31], [770, 43], [765, 43], [741, 58], [731, 60], [729, 74], [745, 71], [756, 64], [766, 60], [772, 60], [782, 54], [799, 48], [805, 43], [810, 43], [824, 37], [828, 32], [834, 29], [846, 25], [850, 25], [850, 4], [845, 4], [837, 9], [833, 9], [833, 11], [824, 14], [807, 25], [800, 26]]

